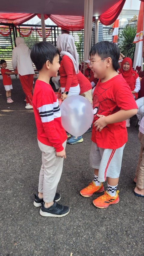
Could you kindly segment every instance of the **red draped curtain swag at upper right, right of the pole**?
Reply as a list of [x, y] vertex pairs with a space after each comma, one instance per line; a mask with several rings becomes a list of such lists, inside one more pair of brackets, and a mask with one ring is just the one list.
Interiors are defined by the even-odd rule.
[[125, 1], [126, 0], [120, 0], [103, 14], [101, 14], [99, 17], [100, 22], [105, 26], [113, 24], [122, 11]]

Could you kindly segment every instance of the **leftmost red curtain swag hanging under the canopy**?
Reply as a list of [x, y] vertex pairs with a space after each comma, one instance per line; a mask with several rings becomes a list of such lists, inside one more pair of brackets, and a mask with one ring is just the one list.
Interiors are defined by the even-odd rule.
[[18, 26], [35, 16], [32, 13], [0, 13], [0, 23], [13, 23]]

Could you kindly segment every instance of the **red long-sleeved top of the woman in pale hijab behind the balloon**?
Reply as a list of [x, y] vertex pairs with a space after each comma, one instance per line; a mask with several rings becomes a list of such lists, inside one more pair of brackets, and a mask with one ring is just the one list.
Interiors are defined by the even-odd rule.
[[67, 55], [62, 57], [59, 74], [61, 87], [65, 87], [64, 91], [69, 91], [70, 87], [78, 85], [73, 61]]

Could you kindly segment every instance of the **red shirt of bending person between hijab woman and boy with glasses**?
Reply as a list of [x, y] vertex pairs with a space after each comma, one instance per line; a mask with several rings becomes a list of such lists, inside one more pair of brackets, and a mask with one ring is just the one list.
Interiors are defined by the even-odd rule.
[[80, 86], [80, 93], [82, 94], [86, 91], [89, 91], [92, 87], [91, 87], [91, 83], [89, 82], [89, 80], [82, 74], [82, 72], [79, 71], [78, 74], [76, 74], [77, 76], [77, 80]]

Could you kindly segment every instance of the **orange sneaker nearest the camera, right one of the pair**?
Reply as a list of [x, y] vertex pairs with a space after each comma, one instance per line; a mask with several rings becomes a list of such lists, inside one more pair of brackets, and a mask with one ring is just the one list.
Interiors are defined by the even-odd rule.
[[109, 205], [117, 204], [119, 202], [118, 193], [119, 190], [116, 191], [116, 196], [111, 196], [107, 191], [104, 191], [104, 195], [96, 198], [93, 204], [98, 208], [107, 208]]

